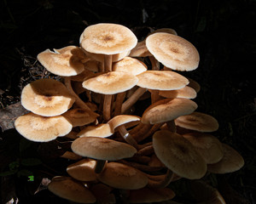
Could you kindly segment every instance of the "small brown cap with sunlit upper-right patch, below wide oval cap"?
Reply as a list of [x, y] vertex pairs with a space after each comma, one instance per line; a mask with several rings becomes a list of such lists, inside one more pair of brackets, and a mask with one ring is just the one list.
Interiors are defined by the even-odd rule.
[[67, 173], [79, 181], [95, 181], [95, 167], [96, 160], [86, 158], [69, 165]]

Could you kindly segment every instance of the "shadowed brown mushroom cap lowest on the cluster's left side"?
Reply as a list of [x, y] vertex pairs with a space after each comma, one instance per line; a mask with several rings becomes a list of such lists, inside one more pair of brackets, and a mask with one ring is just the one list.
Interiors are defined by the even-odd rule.
[[48, 185], [48, 190], [68, 201], [78, 203], [96, 202], [96, 197], [83, 184], [73, 178], [55, 176]]

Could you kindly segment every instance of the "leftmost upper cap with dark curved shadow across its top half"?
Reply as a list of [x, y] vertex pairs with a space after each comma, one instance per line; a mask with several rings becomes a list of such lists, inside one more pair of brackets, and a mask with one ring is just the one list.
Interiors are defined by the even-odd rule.
[[61, 82], [38, 79], [22, 89], [21, 105], [41, 116], [58, 116], [73, 105], [75, 99]]

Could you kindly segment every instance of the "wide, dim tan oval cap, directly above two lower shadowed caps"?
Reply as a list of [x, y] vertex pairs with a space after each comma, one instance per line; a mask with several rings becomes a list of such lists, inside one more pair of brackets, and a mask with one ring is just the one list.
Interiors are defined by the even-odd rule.
[[137, 152], [130, 144], [98, 137], [81, 137], [75, 139], [71, 144], [71, 149], [79, 156], [109, 161], [129, 158]]

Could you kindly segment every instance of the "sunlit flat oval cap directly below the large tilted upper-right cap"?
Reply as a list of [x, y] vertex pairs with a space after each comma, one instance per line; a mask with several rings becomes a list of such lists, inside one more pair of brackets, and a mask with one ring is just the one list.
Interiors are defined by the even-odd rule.
[[143, 71], [137, 78], [137, 86], [148, 89], [175, 90], [189, 84], [186, 77], [174, 71]]

